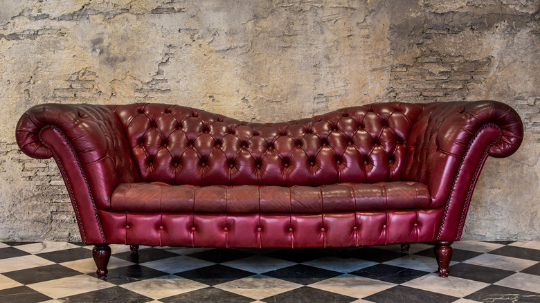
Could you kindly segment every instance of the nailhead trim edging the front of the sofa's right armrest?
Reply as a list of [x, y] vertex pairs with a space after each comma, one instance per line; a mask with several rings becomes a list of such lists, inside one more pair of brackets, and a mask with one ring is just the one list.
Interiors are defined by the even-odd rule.
[[441, 224], [440, 224], [439, 233], [437, 235], [437, 240], [440, 239], [440, 235], [442, 234], [442, 228], [444, 227], [444, 219], [446, 219], [446, 217], [447, 217], [452, 192], [453, 192], [454, 187], [456, 186], [456, 181], [458, 181], [458, 175], [460, 174], [461, 167], [462, 167], [463, 163], [465, 162], [465, 158], [467, 158], [467, 154], [469, 153], [469, 149], [471, 148], [473, 141], [476, 140], [476, 138], [478, 137], [480, 132], [483, 131], [486, 127], [496, 127], [496, 129], [498, 129], [498, 138], [497, 138], [497, 140], [494, 140], [491, 144], [489, 144], [489, 146], [485, 149], [482, 158], [480, 158], [480, 162], [476, 166], [476, 171], [473, 174], [471, 184], [469, 185], [469, 190], [467, 190], [467, 196], [465, 196], [465, 201], [463, 201], [463, 210], [461, 211], [460, 223], [458, 224], [458, 230], [456, 232], [456, 240], [459, 239], [460, 232], [462, 231], [462, 226], [464, 225], [465, 212], [467, 211], [467, 205], [469, 203], [469, 199], [471, 198], [471, 194], [472, 194], [472, 191], [473, 191], [474, 180], [476, 179], [476, 176], [478, 175], [478, 172], [480, 171], [480, 165], [482, 165], [482, 162], [484, 161], [484, 159], [489, 155], [488, 154], [489, 149], [493, 145], [495, 145], [498, 142], [498, 140], [501, 140], [501, 137], [503, 136], [503, 131], [501, 131], [501, 128], [498, 127], [498, 125], [496, 125], [496, 124], [494, 124], [492, 122], [489, 122], [489, 123], [486, 123], [485, 125], [482, 125], [482, 127], [480, 127], [480, 129], [478, 129], [478, 131], [476, 131], [476, 133], [472, 136], [471, 140], [469, 141], [469, 144], [467, 144], [467, 149], [465, 149], [465, 155], [462, 157], [461, 162], [458, 165], [458, 170], [456, 172], [456, 176], [453, 178], [452, 187], [450, 188], [450, 193], [449, 193], [449, 196], [448, 196], [448, 199], [447, 199], [447, 203], [446, 203], [446, 206], [444, 207], [444, 214], [442, 215], [442, 221], [441, 221]]

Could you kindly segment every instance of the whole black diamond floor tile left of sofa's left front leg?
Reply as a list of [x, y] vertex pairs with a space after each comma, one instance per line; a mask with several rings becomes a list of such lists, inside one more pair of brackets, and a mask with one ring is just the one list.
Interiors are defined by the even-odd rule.
[[53, 264], [23, 270], [15, 270], [9, 273], [3, 273], [2, 275], [5, 275], [10, 279], [14, 279], [22, 284], [33, 284], [53, 279], [60, 279], [62, 277], [81, 275], [81, 273], [79, 273], [77, 270], [73, 270], [62, 265]]

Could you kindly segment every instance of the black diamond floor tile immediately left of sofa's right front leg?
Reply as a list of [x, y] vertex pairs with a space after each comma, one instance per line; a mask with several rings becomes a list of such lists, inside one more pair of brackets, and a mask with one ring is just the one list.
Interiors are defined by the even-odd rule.
[[377, 279], [384, 282], [402, 284], [417, 277], [422, 277], [429, 273], [411, 268], [403, 268], [388, 264], [377, 264], [374, 266], [362, 268], [350, 273], [351, 275], [359, 275], [370, 279]]

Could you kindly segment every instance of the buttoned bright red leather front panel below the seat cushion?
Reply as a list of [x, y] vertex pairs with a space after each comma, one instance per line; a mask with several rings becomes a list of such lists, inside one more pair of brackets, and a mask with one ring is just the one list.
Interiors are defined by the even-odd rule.
[[301, 248], [435, 241], [444, 208], [325, 214], [100, 211], [111, 244]]

